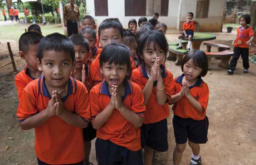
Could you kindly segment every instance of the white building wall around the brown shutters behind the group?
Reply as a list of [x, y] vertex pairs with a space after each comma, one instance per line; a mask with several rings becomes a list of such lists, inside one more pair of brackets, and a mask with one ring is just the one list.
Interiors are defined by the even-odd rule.
[[[168, 28], [175, 29], [177, 26], [177, 12], [178, 12], [178, 2], [179, 0], [169, 0], [169, 11], [167, 16], [160, 16], [159, 21], [164, 22]], [[124, 28], [128, 28], [128, 22], [130, 19], [135, 19], [138, 22], [138, 19], [141, 16], [127, 16], [125, 17], [125, 1], [124, 0], [108, 0], [108, 17], [95, 17], [94, 10], [94, 0], [86, 0], [87, 12], [94, 19], [97, 20], [98, 26], [101, 22], [107, 18], [119, 18]], [[149, 20], [153, 16], [146, 16]]]

